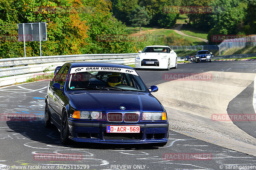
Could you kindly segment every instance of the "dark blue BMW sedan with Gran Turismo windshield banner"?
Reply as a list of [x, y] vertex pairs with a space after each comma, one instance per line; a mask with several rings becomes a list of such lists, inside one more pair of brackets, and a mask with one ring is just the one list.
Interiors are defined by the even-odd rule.
[[162, 104], [130, 66], [70, 62], [48, 85], [44, 125], [60, 140], [109, 144], [167, 143], [169, 123]]

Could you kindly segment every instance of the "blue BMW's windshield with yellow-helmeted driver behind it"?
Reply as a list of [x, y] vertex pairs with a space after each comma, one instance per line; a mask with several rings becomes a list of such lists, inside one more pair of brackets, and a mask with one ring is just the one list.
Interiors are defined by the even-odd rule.
[[[72, 68], [73, 69], [73, 68]], [[71, 70], [72, 71], [72, 70]], [[128, 73], [126, 73], [127, 71]], [[126, 90], [148, 92], [140, 77], [133, 70], [125, 69], [123, 72], [115, 71], [84, 71], [70, 72], [68, 89], [94, 89], [94, 90]]]

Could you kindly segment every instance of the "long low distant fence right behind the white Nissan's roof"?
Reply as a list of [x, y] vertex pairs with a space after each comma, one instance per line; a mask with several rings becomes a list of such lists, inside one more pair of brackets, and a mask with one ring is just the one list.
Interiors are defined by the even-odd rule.
[[219, 50], [217, 45], [169, 46], [173, 50]]

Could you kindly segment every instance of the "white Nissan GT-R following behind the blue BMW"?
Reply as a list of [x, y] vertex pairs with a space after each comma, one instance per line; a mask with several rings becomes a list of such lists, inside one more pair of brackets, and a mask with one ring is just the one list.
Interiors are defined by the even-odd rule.
[[169, 46], [147, 46], [135, 59], [136, 69], [177, 68], [177, 54]]

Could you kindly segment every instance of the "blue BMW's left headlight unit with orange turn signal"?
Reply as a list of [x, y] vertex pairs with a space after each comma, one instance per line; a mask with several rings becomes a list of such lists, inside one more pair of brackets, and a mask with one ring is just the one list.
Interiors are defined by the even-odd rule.
[[77, 119], [102, 119], [102, 113], [96, 111], [75, 111], [72, 117]]

